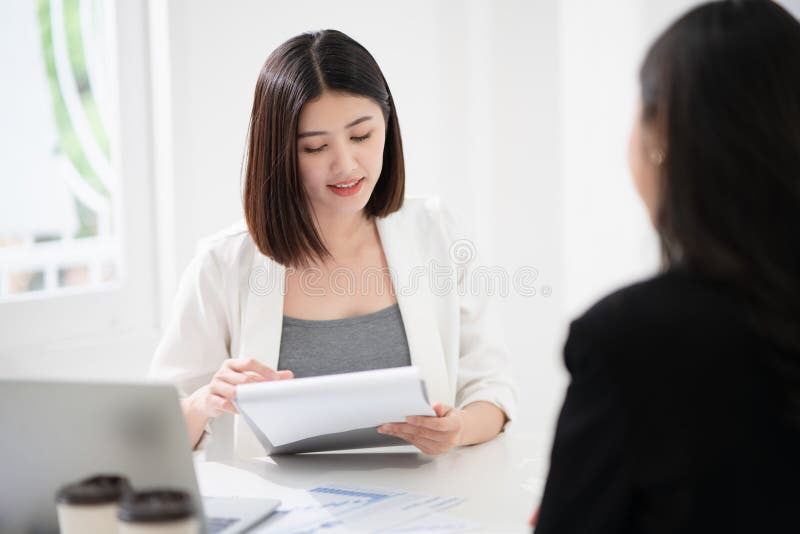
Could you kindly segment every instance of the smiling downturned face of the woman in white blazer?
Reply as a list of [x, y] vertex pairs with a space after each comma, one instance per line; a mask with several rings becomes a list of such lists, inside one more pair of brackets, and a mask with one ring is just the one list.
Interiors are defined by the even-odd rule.
[[297, 159], [315, 213], [364, 209], [383, 167], [386, 122], [370, 98], [324, 92], [300, 112]]

